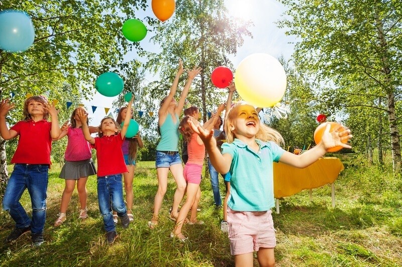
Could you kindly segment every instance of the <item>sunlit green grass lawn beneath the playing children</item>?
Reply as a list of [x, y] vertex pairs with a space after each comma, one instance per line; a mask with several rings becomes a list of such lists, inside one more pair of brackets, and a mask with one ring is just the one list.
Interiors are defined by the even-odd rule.
[[[335, 182], [336, 207], [331, 206], [331, 188], [302, 191], [280, 201], [280, 214], [272, 213], [277, 246], [276, 266], [402, 266], [402, 178], [390, 170], [368, 166], [358, 157], [344, 158], [345, 170]], [[74, 191], [67, 220], [53, 223], [59, 211], [64, 180], [60, 167], [49, 172], [46, 242], [34, 248], [30, 235], [15, 244], [0, 243], [1, 266], [233, 266], [229, 239], [220, 230], [222, 210], [213, 207], [209, 179], [203, 179], [198, 219], [203, 225], [184, 225], [189, 242], [169, 237], [173, 222], [168, 219], [175, 183], [169, 174], [168, 191], [158, 226], [150, 230], [157, 189], [154, 162], [138, 162], [134, 179], [134, 223], [117, 231], [120, 237], [108, 245], [96, 198], [96, 177], [88, 179], [89, 218], [80, 221]], [[11, 166], [12, 167], [12, 166]], [[203, 172], [204, 174], [204, 172]], [[221, 180], [222, 182], [222, 180]], [[224, 196], [224, 185], [221, 184]], [[30, 197], [22, 204], [31, 211]], [[0, 213], [0, 239], [14, 227], [5, 211]], [[255, 265], [258, 266], [255, 258]]]

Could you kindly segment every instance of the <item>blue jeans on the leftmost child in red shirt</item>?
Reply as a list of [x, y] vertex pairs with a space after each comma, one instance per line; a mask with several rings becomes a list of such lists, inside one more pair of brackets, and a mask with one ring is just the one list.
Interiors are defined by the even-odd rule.
[[[3, 197], [3, 209], [10, 213], [17, 228], [31, 225], [31, 232], [42, 233], [46, 220], [46, 190], [49, 165], [15, 164]], [[31, 196], [32, 219], [20, 199], [25, 189]]]

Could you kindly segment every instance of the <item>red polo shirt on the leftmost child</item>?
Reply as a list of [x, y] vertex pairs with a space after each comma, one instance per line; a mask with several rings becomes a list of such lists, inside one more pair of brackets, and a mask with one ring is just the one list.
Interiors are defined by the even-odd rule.
[[19, 135], [17, 150], [11, 163], [25, 164], [51, 164], [50, 151], [52, 150], [52, 137], [50, 130], [52, 123], [43, 119], [19, 121], [11, 127]]

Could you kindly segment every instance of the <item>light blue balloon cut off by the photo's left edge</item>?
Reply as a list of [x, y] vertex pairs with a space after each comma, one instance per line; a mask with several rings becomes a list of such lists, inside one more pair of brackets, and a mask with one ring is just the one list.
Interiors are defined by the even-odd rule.
[[0, 13], [0, 49], [12, 53], [24, 52], [34, 40], [35, 29], [28, 14], [16, 10]]

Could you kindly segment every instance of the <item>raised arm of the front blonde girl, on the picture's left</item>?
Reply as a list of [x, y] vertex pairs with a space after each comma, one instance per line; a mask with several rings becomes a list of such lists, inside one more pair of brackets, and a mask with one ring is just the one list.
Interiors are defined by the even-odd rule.
[[214, 131], [207, 131], [199, 124], [195, 126], [191, 120], [188, 121], [188, 124], [190, 125], [191, 129], [198, 134], [199, 138], [203, 140], [214, 168], [219, 173], [228, 173], [230, 164], [232, 163], [232, 156], [227, 153], [223, 155], [221, 154], [221, 151], [217, 147], [217, 141], [214, 138]]

